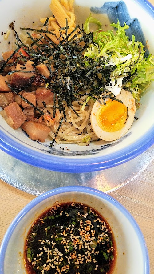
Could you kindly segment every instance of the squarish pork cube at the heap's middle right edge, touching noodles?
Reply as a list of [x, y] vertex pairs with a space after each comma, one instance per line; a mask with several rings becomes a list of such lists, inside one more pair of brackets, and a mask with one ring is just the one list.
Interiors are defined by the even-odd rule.
[[36, 90], [36, 100], [38, 107], [43, 107], [43, 103], [46, 105], [53, 105], [53, 92], [50, 89], [46, 89], [45, 87], [39, 87]]

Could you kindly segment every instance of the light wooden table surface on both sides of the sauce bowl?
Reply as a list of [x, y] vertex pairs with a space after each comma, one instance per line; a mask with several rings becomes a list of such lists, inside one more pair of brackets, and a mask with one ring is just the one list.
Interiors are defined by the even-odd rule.
[[[154, 5], [154, 0], [150, 2]], [[149, 252], [150, 274], [154, 274], [154, 161], [136, 179], [110, 195], [140, 226]], [[0, 244], [14, 217], [34, 198], [0, 180]]]

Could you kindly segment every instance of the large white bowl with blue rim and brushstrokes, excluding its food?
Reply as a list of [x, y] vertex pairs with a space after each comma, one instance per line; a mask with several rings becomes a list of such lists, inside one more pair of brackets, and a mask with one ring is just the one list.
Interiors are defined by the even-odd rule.
[[[3, 33], [14, 22], [14, 29], [20, 33], [20, 27], [40, 26], [39, 18], [51, 16], [50, 0], [0, 1], [0, 26]], [[129, 25], [127, 35], [138, 41], [154, 54], [151, 30], [154, 27], [154, 8], [145, 0], [105, 1], [76, 0], [75, 14], [77, 23], [85, 22], [89, 13], [102, 22], [104, 30], [111, 29], [110, 23], [119, 20]], [[35, 11], [35, 12], [34, 12]], [[136, 13], [137, 11], [137, 13]], [[7, 15], [7, 16], [6, 16]], [[0, 53], [11, 50], [14, 45], [14, 31], [7, 39], [1, 37]], [[88, 146], [78, 144], [55, 144], [51, 140], [44, 143], [33, 141], [22, 131], [12, 129], [0, 115], [0, 148], [13, 157], [30, 165], [52, 171], [89, 172], [114, 167], [140, 155], [154, 143], [153, 93], [151, 83], [144, 92], [140, 108], [136, 111], [138, 120], [134, 120], [127, 133], [116, 141], [92, 141]]]

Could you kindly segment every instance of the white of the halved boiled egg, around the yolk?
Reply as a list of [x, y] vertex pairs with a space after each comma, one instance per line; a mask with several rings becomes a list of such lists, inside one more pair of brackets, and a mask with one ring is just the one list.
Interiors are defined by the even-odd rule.
[[[98, 123], [97, 123], [97, 112], [99, 108], [102, 107], [102, 105], [96, 101], [93, 105], [91, 115], [90, 115], [90, 121], [91, 121], [91, 126], [94, 131], [94, 133], [98, 136], [98, 138], [105, 140], [105, 141], [114, 141], [119, 138], [121, 138], [131, 127], [133, 121], [134, 121], [134, 116], [135, 116], [135, 99], [133, 98], [131, 92], [127, 90], [121, 90], [120, 95], [116, 96], [116, 99], [119, 99], [120, 101], [123, 102], [123, 104], [128, 108], [128, 118], [126, 123], [124, 124], [124, 127], [120, 130], [113, 131], [113, 132], [107, 132], [102, 130]], [[108, 101], [109, 99], [105, 99], [105, 101]], [[102, 101], [103, 102], [103, 101]]]

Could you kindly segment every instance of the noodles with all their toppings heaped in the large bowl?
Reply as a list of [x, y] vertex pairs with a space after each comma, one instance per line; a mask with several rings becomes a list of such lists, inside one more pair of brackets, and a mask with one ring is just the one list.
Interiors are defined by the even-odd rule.
[[21, 28], [20, 38], [14, 29], [17, 48], [2, 54], [2, 117], [32, 140], [50, 139], [50, 146], [119, 139], [154, 80], [153, 57], [144, 57], [134, 35], [128, 39], [126, 24], [104, 32], [90, 15], [80, 27], [73, 0], [52, 0], [50, 9], [53, 17], [41, 18], [38, 29]]

